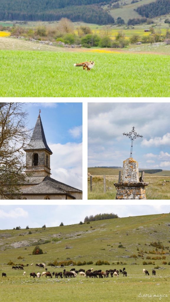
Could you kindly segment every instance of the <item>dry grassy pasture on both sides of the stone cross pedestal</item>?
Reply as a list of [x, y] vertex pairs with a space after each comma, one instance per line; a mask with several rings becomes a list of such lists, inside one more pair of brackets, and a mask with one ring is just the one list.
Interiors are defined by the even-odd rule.
[[[118, 182], [120, 170], [122, 168], [88, 168], [88, 172], [93, 175], [92, 192], [90, 192], [90, 177], [88, 176], [88, 199], [115, 199], [114, 183]], [[103, 192], [103, 175], [106, 175], [106, 193]], [[147, 199], [170, 199], [170, 171], [145, 173], [144, 181], [149, 182], [149, 185], [145, 187]], [[162, 186], [163, 183], [165, 185]]]

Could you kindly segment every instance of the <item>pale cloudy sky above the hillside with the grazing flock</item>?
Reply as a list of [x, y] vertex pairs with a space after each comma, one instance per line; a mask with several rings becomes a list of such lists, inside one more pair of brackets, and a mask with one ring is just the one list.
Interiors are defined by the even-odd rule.
[[79, 223], [86, 216], [114, 213], [119, 217], [169, 213], [169, 205], [1, 205], [0, 230]]

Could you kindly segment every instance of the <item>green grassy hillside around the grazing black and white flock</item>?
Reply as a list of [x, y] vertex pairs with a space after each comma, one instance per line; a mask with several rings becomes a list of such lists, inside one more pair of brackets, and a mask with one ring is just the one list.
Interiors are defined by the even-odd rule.
[[[115, 213], [116, 214], [116, 213]], [[0, 230], [1, 260], [0, 260], [0, 287], [1, 301], [19, 302], [37, 300], [41, 302], [72, 301], [82, 302], [136, 302], [146, 300], [140, 298], [141, 294], [166, 294], [169, 300], [169, 219], [170, 214], [147, 215], [137, 217], [116, 218], [102, 221], [93, 221], [90, 224], [75, 224], [62, 227], [29, 230]], [[24, 235], [24, 236], [23, 236]], [[52, 241], [60, 238], [60, 241]], [[42, 244], [42, 255], [32, 255], [35, 241], [49, 240], [50, 243]], [[156, 250], [152, 242], [161, 241], [162, 248]], [[119, 248], [119, 244], [122, 248]], [[17, 246], [20, 246], [17, 248]], [[66, 249], [66, 246], [70, 249]], [[16, 247], [16, 248], [15, 248]], [[18, 259], [20, 257], [20, 259]], [[23, 258], [21, 258], [23, 257]], [[155, 258], [155, 259], [152, 259]], [[127, 277], [91, 279], [77, 276], [76, 278], [40, 279], [32, 277], [29, 273], [44, 271], [36, 268], [36, 263], [58, 262], [66, 259], [78, 261], [93, 261], [92, 265], [74, 267], [78, 270], [92, 268], [95, 270], [126, 268]], [[110, 265], [95, 265], [97, 260], [108, 261]], [[22, 270], [14, 270], [9, 261], [15, 264], [29, 264]], [[143, 265], [142, 262], [147, 262]], [[150, 262], [150, 264], [148, 264]], [[164, 264], [163, 264], [164, 262]], [[165, 264], [167, 262], [167, 264]], [[30, 264], [33, 263], [31, 267]], [[156, 276], [152, 276], [152, 269], [156, 269]], [[49, 271], [63, 271], [61, 268], [51, 268]], [[142, 273], [145, 268], [149, 276]], [[71, 267], [65, 266], [66, 270]], [[2, 277], [2, 272], [7, 277]], [[153, 299], [159, 301], [159, 298]]]

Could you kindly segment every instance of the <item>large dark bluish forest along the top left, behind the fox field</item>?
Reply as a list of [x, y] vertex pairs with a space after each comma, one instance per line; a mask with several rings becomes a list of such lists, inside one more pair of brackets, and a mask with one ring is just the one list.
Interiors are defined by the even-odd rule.
[[69, 18], [73, 22], [113, 24], [113, 17], [101, 8], [107, 3], [109, 0], [102, 3], [101, 0], [2, 0], [0, 20], [57, 21]]

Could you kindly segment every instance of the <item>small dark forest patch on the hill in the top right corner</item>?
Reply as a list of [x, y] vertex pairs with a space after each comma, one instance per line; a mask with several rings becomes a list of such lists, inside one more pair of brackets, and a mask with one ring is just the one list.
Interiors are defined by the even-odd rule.
[[139, 15], [146, 18], [155, 18], [157, 16], [170, 13], [169, 0], [157, 0], [149, 4], [139, 6], [136, 11]]

